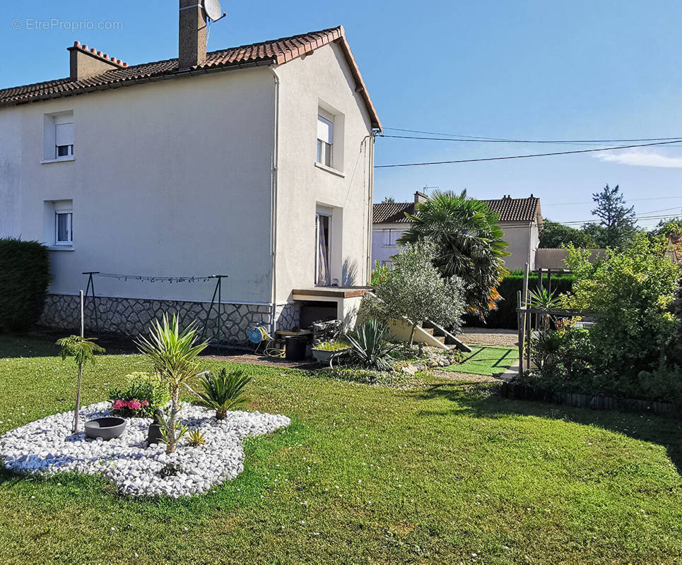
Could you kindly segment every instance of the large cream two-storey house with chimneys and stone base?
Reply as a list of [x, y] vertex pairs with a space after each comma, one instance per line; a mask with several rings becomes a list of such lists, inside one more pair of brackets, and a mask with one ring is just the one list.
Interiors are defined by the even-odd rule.
[[343, 28], [206, 53], [201, 6], [180, 6], [179, 59], [76, 42], [67, 78], [0, 90], [0, 237], [51, 250], [42, 323], [78, 325], [86, 271], [127, 275], [95, 275], [105, 331], [203, 322], [213, 274], [223, 340], [298, 326], [310, 300], [348, 317], [365, 291], [330, 285], [370, 278], [381, 124]]

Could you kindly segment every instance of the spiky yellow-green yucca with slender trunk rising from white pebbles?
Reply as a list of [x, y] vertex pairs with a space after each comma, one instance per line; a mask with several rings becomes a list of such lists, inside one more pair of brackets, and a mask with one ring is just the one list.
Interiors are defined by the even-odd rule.
[[168, 386], [170, 410], [165, 419], [166, 453], [175, 451], [175, 444], [182, 435], [176, 434], [177, 412], [180, 410], [180, 387], [199, 374], [196, 357], [208, 343], [198, 343], [196, 324], [193, 322], [180, 330], [177, 316], [172, 320], [163, 315], [161, 322], [155, 320], [150, 326], [149, 338], [136, 340], [139, 350], [152, 362], [154, 371]]

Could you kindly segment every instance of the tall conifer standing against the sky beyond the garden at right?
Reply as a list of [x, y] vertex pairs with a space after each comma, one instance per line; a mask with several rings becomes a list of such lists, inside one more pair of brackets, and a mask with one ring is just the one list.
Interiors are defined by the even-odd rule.
[[[592, 234], [597, 244], [602, 247], [620, 249], [628, 244], [635, 234], [635, 206], [627, 206], [621, 189], [616, 184], [613, 189], [608, 184], [601, 192], [592, 194], [596, 208], [592, 214], [596, 215], [602, 229], [584, 228]], [[594, 224], [593, 224], [594, 225]]]

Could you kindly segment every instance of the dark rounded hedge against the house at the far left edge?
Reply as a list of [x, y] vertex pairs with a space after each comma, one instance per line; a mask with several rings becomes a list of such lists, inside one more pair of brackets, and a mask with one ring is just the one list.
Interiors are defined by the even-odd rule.
[[51, 280], [47, 247], [0, 238], [0, 330], [30, 329], [42, 314]]

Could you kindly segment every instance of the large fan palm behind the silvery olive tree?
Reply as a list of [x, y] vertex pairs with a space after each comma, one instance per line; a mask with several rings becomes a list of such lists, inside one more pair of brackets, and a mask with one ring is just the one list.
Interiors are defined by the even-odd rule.
[[483, 318], [495, 309], [500, 300], [497, 287], [507, 274], [503, 258], [509, 255], [498, 213], [466, 196], [466, 190], [434, 191], [428, 201], [417, 205], [416, 215], [407, 217], [411, 225], [398, 243], [433, 240], [435, 266], [444, 278], [456, 275], [464, 280], [471, 313]]

